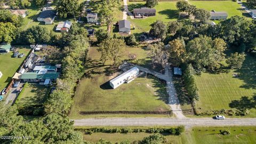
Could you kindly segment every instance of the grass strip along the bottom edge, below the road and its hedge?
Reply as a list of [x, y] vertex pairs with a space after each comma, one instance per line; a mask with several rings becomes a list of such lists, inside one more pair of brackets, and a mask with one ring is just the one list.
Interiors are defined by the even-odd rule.
[[[220, 134], [220, 130], [229, 130], [230, 135]], [[222, 143], [256, 143], [256, 127], [192, 127], [186, 129], [181, 135], [166, 135], [166, 143], [175, 144], [222, 144]], [[129, 140], [131, 142], [142, 140], [144, 137], [152, 135], [150, 133], [93, 133], [84, 134], [86, 141], [97, 142], [100, 138], [113, 143]]]

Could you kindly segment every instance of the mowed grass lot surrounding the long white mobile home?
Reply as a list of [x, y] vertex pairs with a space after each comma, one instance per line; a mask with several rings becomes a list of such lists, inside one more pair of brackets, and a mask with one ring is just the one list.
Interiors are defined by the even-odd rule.
[[[126, 47], [124, 59], [130, 52], [137, 54], [137, 60], [146, 58], [147, 51], [140, 47]], [[100, 53], [96, 47], [90, 49], [93, 65], [99, 61]], [[106, 65], [110, 64], [107, 61]], [[121, 72], [122, 73], [122, 72]], [[165, 83], [147, 75], [111, 89], [109, 80], [121, 74], [111, 66], [88, 69], [86, 77], [77, 87], [74, 104], [70, 111], [71, 118], [79, 118], [79, 111], [167, 111], [168, 99]]]

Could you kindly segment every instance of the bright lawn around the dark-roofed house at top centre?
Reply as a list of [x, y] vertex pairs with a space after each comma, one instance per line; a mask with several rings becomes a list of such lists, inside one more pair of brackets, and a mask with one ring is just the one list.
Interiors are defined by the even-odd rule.
[[[140, 8], [145, 6], [146, 2], [129, 2], [129, 11], [133, 11], [135, 8]], [[132, 33], [142, 33], [150, 30], [150, 25], [156, 20], [162, 20], [164, 22], [169, 22], [177, 20], [179, 17], [178, 10], [176, 9], [176, 2], [158, 2], [158, 5], [154, 8], [156, 9], [156, 16], [148, 17], [146, 19], [130, 19], [132, 25], [135, 26], [135, 30]]]

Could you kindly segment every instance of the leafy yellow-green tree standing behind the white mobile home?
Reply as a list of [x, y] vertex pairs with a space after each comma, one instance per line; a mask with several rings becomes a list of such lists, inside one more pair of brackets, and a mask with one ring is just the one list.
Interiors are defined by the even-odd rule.
[[107, 60], [113, 60], [113, 66], [117, 66], [119, 62], [121, 62], [124, 46], [125, 43], [123, 39], [105, 39], [98, 48], [98, 51], [101, 52], [101, 60], [103, 61], [103, 65]]

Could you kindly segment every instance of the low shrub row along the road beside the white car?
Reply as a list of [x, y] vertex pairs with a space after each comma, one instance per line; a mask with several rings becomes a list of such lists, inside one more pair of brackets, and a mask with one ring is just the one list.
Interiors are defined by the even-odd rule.
[[246, 116], [250, 115], [250, 111], [248, 109], [241, 109], [241, 110], [226, 110], [226, 109], [221, 109], [221, 110], [207, 110], [207, 111], [199, 111], [197, 109], [194, 110], [195, 115], [198, 116], [206, 116], [206, 115], [219, 115], [219, 114], [226, 114], [229, 116]]

